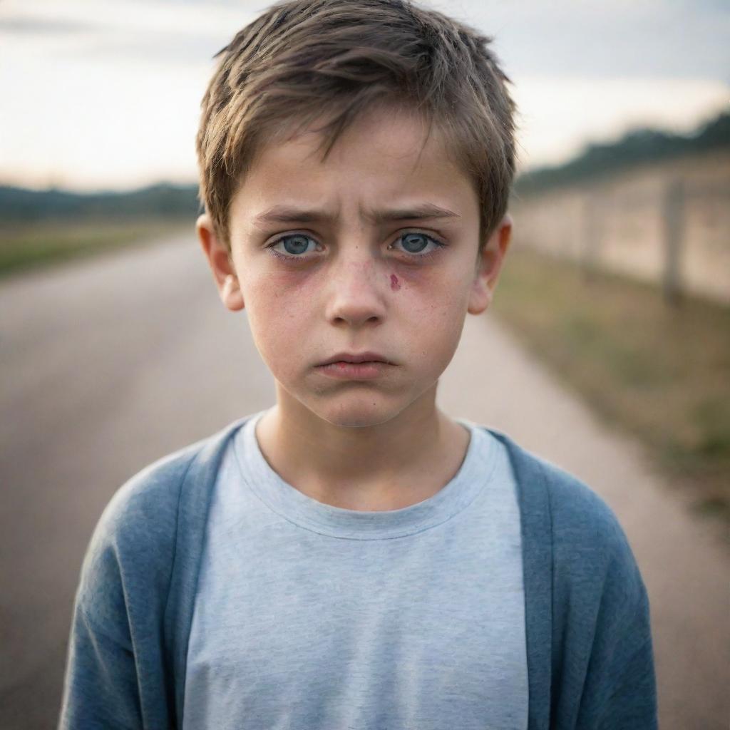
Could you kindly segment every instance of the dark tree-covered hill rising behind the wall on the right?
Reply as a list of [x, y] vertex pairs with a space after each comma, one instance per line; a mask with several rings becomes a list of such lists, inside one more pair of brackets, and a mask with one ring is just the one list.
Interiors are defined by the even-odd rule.
[[636, 129], [618, 142], [588, 145], [583, 153], [566, 164], [542, 167], [520, 175], [515, 183], [515, 193], [518, 196], [534, 195], [632, 167], [721, 148], [730, 149], [728, 112], [686, 136], [656, 129]]

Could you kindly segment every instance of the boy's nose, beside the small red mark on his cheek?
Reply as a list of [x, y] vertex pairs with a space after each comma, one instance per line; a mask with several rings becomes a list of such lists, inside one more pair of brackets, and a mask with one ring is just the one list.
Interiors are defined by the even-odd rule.
[[[365, 255], [339, 262], [330, 272], [326, 291], [326, 317], [331, 323], [351, 326], [377, 324], [385, 317], [385, 272]], [[383, 281], [380, 281], [383, 279]]]

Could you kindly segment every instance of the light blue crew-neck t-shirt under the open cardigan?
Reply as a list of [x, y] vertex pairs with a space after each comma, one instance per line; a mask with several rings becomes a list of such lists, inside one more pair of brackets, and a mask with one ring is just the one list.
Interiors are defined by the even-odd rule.
[[471, 433], [458, 473], [385, 512], [285, 483], [253, 415], [212, 497], [184, 730], [524, 730], [528, 683], [515, 479]]

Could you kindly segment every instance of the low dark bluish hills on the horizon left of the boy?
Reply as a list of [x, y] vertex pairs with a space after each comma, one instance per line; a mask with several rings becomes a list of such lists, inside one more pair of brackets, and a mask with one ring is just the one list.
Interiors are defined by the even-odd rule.
[[123, 193], [34, 191], [0, 186], [0, 221], [79, 220], [82, 218], [174, 218], [196, 216], [197, 185], [161, 183]]

